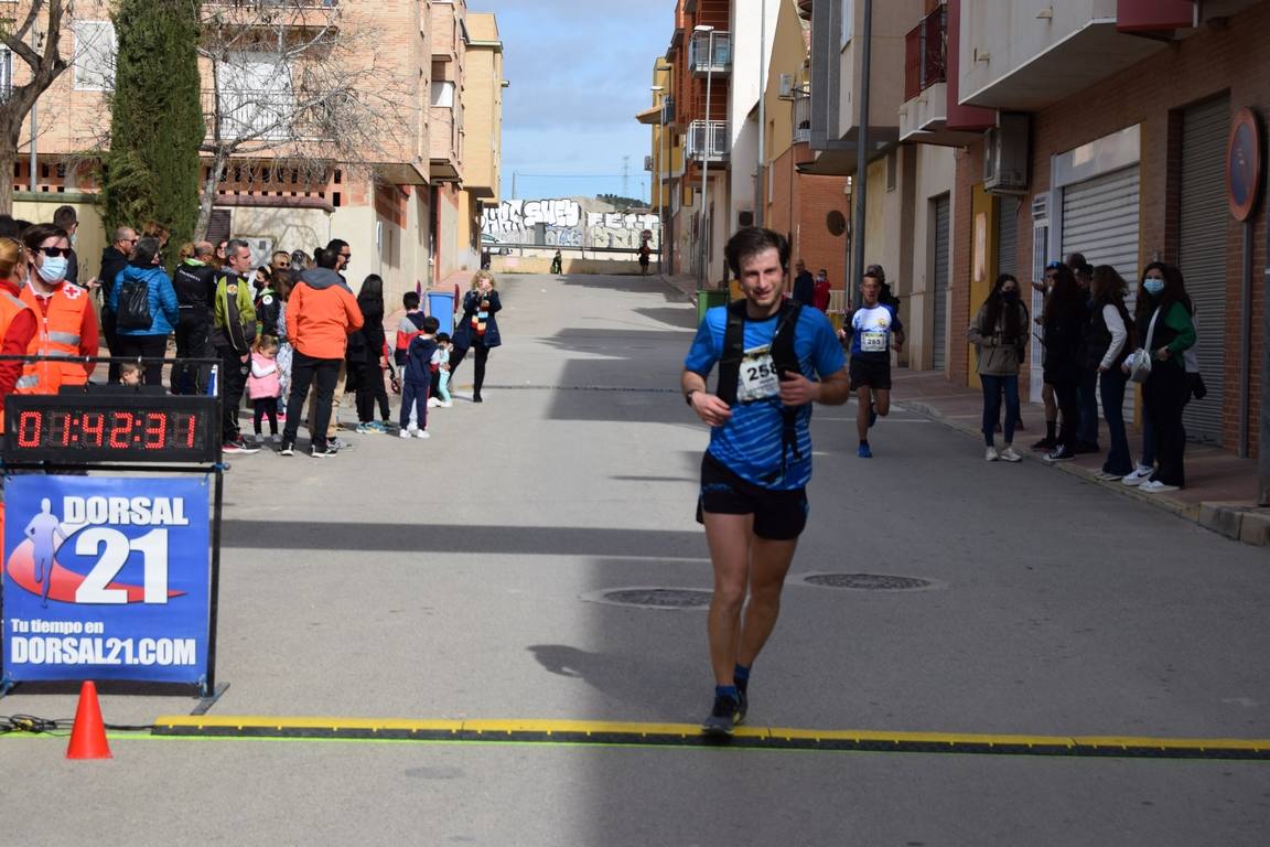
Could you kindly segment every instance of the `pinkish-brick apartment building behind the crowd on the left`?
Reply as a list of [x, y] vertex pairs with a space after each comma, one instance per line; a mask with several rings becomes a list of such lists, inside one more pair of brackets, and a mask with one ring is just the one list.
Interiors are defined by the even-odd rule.
[[[24, 126], [34, 151], [22, 151], [15, 178], [17, 216], [50, 220], [62, 203], [79, 210], [88, 274], [105, 237], [91, 174], [94, 151], [109, 132], [116, 52], [109, 6], [75, 4], [61, 41], [74, 65]], [[462, 0], [208, 0], [203, 14], [232, 33], [221, 42], [229, 50], [215, 69], [201, 60], [208, 140], [251, 140], [235, 149], [218, 180], [208, 237], [246, 237], [260, 260], [274, 249], [311, 251], [344, 239], [353, 254], [351, 278], [382, 276], [390, 298], [461, 262], [475, 267], [475, 243], [460, 249], [460, 216], [448, 212], [458, 207], [464, 178]], [[297, 50], [306, 43], [316, 47]], [[0, 58], [20, 84], [25, 66]], [[363, 136], [364, 149], [348, 160], [331, 154], [339, 147], [331, 127], [339, 122], [323, 119], [352, 108], [339, 100], [340, 89], [357, 91], [368, 109], [367, 102], [391, 100], [381, 114], [389, 130]], [[334, 94], [326, 98], [324, 90]], [[483, 137], [498, 135], [486, 128]], [[204, 160], [204, 180], [213, 165]], [[488, 171], [479, 179], [491, 179]], [[493, 179], [497, 184], [497, 166]]]

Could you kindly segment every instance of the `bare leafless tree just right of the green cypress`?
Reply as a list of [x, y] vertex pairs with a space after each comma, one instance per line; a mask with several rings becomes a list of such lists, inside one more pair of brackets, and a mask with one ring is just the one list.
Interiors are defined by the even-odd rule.
[[378, 41], [338, 4], [203, 4], [210, 88], [197, 232], [207, 230], [231, 160], [305, 183], [325, 183], [337, 165], [357, 173], [381, 160], [419, 94], [386, 65]]

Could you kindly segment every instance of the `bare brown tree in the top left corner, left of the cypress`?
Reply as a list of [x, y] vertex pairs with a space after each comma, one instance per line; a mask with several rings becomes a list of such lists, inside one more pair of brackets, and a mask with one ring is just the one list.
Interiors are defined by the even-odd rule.
[[[0, 30], [0, 41], [27, 65], [30, 75], [23, 85], [0, 91], [0, 212], [13, 212], [13, 171], [18, 164], [22, 123], [39, 95], [70, 67], [70, 61], [58, 50], [58, 42], [62, 19], [72, 11], [72, 6], [71, 0], [30, 0], [20, 24], [14, 20]], [[44, 13], [42, 32], [36, 29], [41, 13]], [[17, 28], [13, 24], [18, 24]]]

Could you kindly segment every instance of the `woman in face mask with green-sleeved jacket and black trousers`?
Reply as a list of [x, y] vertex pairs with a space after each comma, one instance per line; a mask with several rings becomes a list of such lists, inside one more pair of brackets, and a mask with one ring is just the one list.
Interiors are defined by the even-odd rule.
[[1151, 353], [1151, 376], [1142, 386], [1142, 400], [1156, 432], [1158, 465], [1151, 479], [1138, 486], [1140, 491], [1176, 491], [1186, 485], [1182, 409], [1190, 399], [1190, 382], [1182, 354], [1195, 344], [1194, 314], [1182, 272], [1162, 262], [1148, 264], [1134, 317], [1138, 338]]

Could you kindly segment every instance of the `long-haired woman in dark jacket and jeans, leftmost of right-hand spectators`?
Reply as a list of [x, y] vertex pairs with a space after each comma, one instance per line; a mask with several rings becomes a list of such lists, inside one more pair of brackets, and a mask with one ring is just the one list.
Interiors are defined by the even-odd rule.
[[[1015, 452], [1015, 422], [1019, 420], [1019, 363], [1027, 345], [1027, 307], [1019, 298], [1019, 281], [1003, 273], [979, 307], [966, 339], [979, 353], [979, 382], [983, 385], [983, 443], [987, 460], [1022, 461]], [[1006, 444], [997, 452], [996, 428], [1001, 418], [1001, 395], [1006, 396]]]

